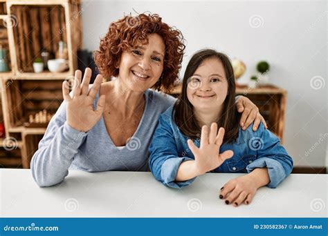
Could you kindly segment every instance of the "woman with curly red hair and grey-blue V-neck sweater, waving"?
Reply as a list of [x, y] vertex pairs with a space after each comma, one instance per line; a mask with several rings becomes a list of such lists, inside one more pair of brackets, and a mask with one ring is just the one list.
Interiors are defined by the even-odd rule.
[[[181, 32], [157, 14], [111, 23], [95, 52], [100, 75], [93, 85], [89, 68], [83, 79], [82, 72], [75, 71], [71, 94], [63, 83], [64, 102], [31, 160], [37, 184], [58, 184], [69, 169], [149, 170], [148, 148], [158, 117], [175, 101], [158, 91], [170, 92], [174, 86], [184, 49]], [[108, 81], [102, 83], [102, 77]], [[245, 97], [239, 97], [236, 106], [244, 110], [242, 126], [254, 119], [258, 126], [263, 119]]]

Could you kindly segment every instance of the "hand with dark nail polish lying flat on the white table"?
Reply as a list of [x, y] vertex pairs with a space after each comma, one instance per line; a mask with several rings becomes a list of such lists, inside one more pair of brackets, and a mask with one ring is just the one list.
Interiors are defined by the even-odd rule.
[[221, 188], [219, 198], [233, 206], [239, 206], [242, 203], [248, 205], [259, 188], [255, 183], [254, 177], [249, 174], [231, 179]]

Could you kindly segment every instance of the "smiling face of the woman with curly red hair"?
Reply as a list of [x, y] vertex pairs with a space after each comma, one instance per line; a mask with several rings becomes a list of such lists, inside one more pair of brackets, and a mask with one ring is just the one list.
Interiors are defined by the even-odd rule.
[[135, 92], [152, 88], [163, 72], [165, 44], [161, 36], [151, 34], [149, 43], [122, 53], [118, 79]]

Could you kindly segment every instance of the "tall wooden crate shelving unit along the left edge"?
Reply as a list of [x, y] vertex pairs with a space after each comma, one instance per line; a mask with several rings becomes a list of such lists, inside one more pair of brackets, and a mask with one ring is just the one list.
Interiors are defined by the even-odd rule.
[[[44, 109], [53, 114], [62, 103], [62, 82], [78, 67], [81, 13], [77, 0], [0, 0], [0, 43], [8, 48], [10, 68], [0, 72], [0, 123], [6, 130], [0, 138], [0, 168], [29, 168], [46, 128], [28, 128], [24, 122]], [[55, 55], [59, 41], [67, 46], [68, 70], [35, 73], [35, 59], [42, 50]]]

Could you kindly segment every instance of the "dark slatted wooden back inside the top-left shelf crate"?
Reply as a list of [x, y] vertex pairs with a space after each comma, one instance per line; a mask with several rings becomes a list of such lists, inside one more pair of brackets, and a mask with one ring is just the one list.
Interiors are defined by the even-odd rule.
[[55, 55], [59, 41], [67, 43], [64, 7], [10, 6], [10, 14], [17, 23], [12, 27], [17, 58], [17, 71], [34, 72], [33, 62], [41, 58], [42, 50]]

